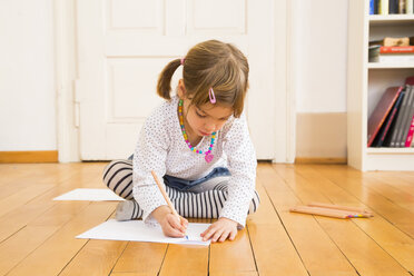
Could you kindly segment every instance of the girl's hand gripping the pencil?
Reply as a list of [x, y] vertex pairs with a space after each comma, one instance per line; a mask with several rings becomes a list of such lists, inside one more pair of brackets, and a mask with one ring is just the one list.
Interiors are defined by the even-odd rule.
[[181, 238], [186, 235], [188, 220], [172, 215], [168, 206], [160, 206], [152, 211], [152, 216], [161, 225], [162, 233], [167, 237]]

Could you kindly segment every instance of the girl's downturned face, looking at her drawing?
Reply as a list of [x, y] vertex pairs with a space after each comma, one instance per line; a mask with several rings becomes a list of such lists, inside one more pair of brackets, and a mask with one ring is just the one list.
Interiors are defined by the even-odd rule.
[[[180, 81], [180, 85], [183, 81]], [[190, 105], [191, 101], [183, 93], [184, 86], [178, 87], [178, 96], [183, 99], [183, 117], [186, 131], [189, 135], [210, 136], [214, 131], [221, 129], [227, 119], [233, 115], [229, 107], [217, 103], [206, 103], [200, 107]]]

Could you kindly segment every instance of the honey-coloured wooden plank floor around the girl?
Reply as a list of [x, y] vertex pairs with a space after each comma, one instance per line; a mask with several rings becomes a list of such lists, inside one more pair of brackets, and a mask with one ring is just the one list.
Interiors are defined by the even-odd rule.
[[[262, 205], [235, 241], [209, 247], [76, 239], [116, 203], [52, 201], [102, 188], [105, 164], [0, 165], [0, 275], [414, 275], [414, 172], [259, 164]], [[309, 201], [373, 218], [292, 214]]]

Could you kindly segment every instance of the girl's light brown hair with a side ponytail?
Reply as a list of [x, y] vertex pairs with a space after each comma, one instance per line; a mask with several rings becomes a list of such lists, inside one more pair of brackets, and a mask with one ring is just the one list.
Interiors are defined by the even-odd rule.
[[[169, 62], [158, 78], [157, 93], [169, 100], [171, 77], [181, 65], [180, 59]], [[229, 106], [240, 117], [248, 89], [248, 62], [240, 50], [230, 43], [208, 40], [193, 47], [184, 59], [183, 80], [186, 97], [200, 107], [209, 102], [213, 88], [217, 103]]]

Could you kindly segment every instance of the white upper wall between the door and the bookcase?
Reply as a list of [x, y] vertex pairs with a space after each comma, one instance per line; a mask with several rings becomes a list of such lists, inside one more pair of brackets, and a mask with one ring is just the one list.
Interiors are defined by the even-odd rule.
[[293, 0], [297, 112], [346, 112], [347, 0]]

